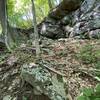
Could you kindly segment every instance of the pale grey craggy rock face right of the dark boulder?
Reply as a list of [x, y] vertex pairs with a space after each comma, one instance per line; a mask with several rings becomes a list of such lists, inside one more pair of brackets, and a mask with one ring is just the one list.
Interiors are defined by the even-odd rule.
[[71, 36], [100, 38], [100, 0], [84, 0], [72, 15]]

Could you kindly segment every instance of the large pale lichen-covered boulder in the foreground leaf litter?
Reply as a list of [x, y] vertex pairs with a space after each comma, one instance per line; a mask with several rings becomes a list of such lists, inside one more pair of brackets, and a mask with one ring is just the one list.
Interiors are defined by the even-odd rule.
[[67, 100], [67, 88], [63, 77], [50, 72], [45, 65], [26, 64], [22, 67], [22, 79], [30, 83], [36, 94], [45, 94], [51, 100]]

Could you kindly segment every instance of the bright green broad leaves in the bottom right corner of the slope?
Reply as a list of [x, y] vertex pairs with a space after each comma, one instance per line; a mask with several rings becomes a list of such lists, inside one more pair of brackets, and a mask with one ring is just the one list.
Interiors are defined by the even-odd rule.
[[81, 95], [77, 97], [77, 100], [100, 100], [100, 84], [97, 84], [93, 88], [84, 88], [81, 90]]

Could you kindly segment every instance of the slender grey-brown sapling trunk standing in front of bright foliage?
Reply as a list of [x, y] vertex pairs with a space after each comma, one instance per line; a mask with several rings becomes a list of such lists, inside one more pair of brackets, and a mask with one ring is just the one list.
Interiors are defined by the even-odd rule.
[[32, 1], [32, 14], [33, 14], [33, 23], [34, 23], [34, 35], [35, 35], [35, 46], [36, 46], [36, 56], [39, 58], [40, 56], [40, 46], [39, 46], [39, 34], [37, 30], [37, 22], [36, 22], [36, 12], [34, 1]]

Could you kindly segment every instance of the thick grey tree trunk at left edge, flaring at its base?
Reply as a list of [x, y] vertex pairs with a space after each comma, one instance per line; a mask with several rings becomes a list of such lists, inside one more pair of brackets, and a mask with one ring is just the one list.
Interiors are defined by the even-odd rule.
[[4, 43], [6, 47], [11, 51], [10, 43], [15, 41], [14, 31], [9, 26], [8, 14], [7, 14], [7, 0], [0, 0], [0, 22], [2, 26], [2, 33], [4, 36]]

